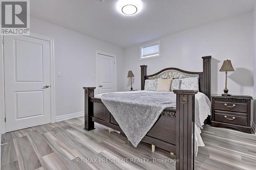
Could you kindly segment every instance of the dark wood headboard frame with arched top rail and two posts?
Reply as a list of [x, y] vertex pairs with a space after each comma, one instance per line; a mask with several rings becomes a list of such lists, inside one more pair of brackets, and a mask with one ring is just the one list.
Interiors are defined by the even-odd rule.
[[203, 59], [203, 72], [190, 72], [190, 71], [185, 71], [179, 68], [165, 68], [159, 72], [157, 72], [154, 75], [146, 75], [146, 68], [147, 65], [141, 65], [141, 90], [144, 90], [144, 85], [145, 85], [145, 80], [146, 79], [151, 79], [151, 78], [155, 78], [158, 75], [161, 75], [164, 71], [168, 71], [168, 70], [176, 70], [180, 73], [186, 74], [188, 75], [188, 77], [195, 77], [195, 76], [199, 76], [199, 91], [204, 93], [205, 95], [208, 96], [208, 98], [210, 98], [210, 61], [211, 61], [211, 56], [206, 56], [206, 57], [202, 57]]

